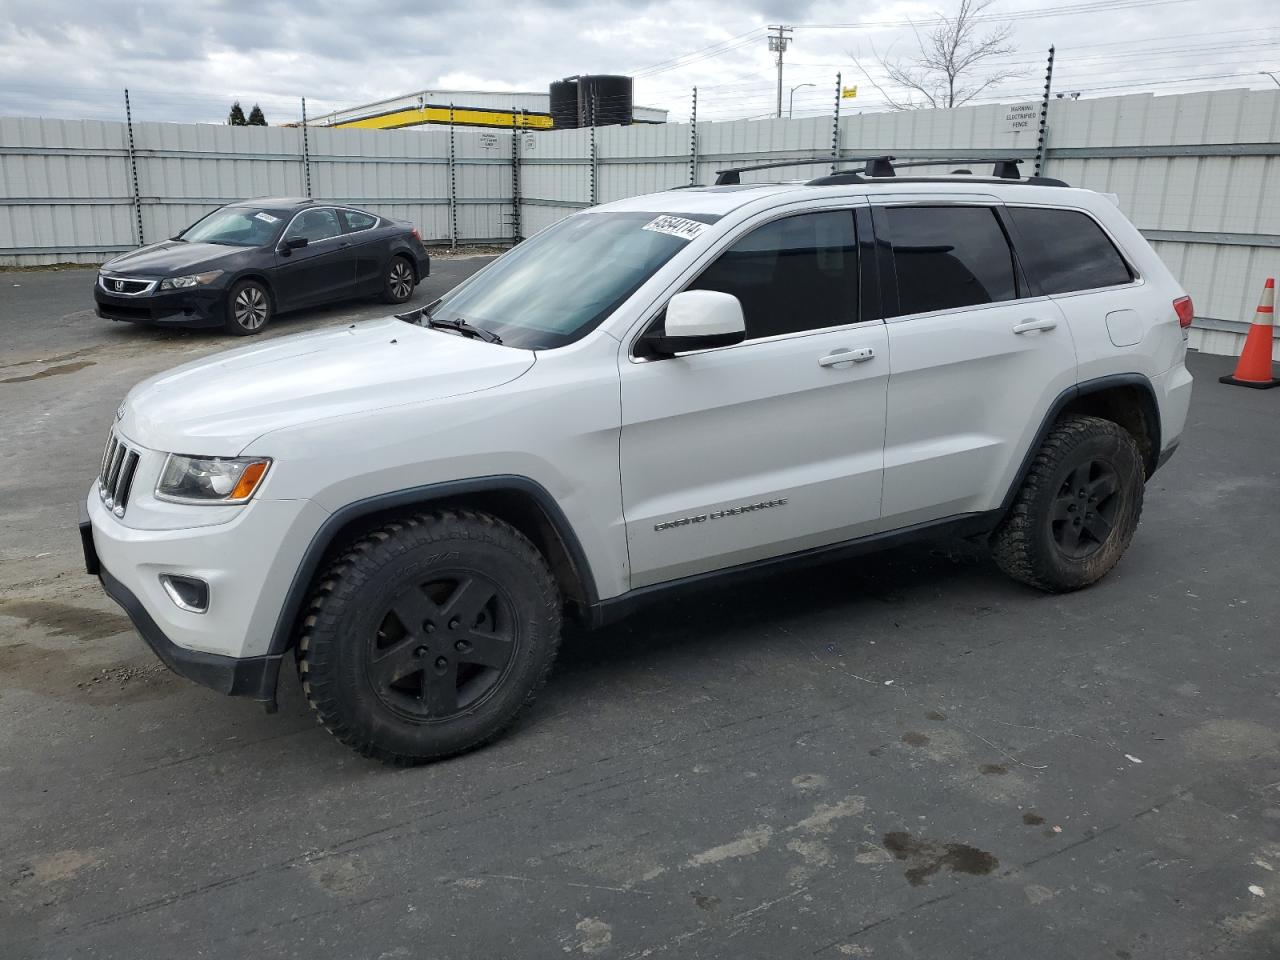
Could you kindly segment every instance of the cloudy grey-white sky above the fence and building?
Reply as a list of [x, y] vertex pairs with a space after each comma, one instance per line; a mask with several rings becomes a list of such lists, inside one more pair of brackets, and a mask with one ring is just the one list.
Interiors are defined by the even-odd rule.
[[[1260, 14], [1274, 1], [996, 0], [1015, 52], [988, 69], [1023, 76], [983, 96], [1038, 96], [1050, 44], [1055, 90], [1085, 97], [1271, 87], [1260, 70], [1280, 72], [1280, 26]], [[301, 96], [315, 115], [431, 87], [631, 73], [636, 101], [671, 119], [687, 116], [694, 84], [700, 119], [760, 116], [774, 104], [771, 23], [795, 24], [786, 86], [814, 84], [795, 92], [796, 115], [829, 111], [837, 70], [859, 84], [842, 109], [881, 110], [877, 58], [909, 55], [914, 31], [957, 3], [0, 0], [0, 115], [118, 119], [129, 87], [141, 119], [220, 122], [238, 99], [282, 123]]]

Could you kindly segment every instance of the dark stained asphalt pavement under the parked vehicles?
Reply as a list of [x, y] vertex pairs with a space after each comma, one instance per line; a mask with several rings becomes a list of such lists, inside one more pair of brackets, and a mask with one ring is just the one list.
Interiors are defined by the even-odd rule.
[[1230, 360], [1094, 588], [940, 541], [684, 596], [394, 771], [289, 672], [276, 716], [169, 675], [83, 573], [115, 404], [233, 346], [91, 283], [0, 273], [4, 960], [1280, 955], [1280, 390]]

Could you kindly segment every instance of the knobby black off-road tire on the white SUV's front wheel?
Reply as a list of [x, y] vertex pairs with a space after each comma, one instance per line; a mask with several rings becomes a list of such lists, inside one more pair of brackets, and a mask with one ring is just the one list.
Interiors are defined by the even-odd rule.
[[[508, 604], [504, 622], [515, 652], [508, 654], [506, 672], [493, 681], [490, 692], [471, 707], [460, 707], [457, 716], [404, 716], [401, 704], [410, 703], [413, 694], [375, 680], [380, 645], [387, 643], [388, 630], [399, 630], [394, 605], [403, 607], [406, 596], [415, 598], [410, 603], [421, 600], [433, 577], [457, 576], [475, 577], [495, 589], [489, 603]], [[422, 654], [424, 648], [415, 652], [428, 658], [428, 668], [417, 681], [424, 710], [430, 664], [442, 663], [443, 657], [434, 659], [440, 652], [452, 659], [451, 637], [467, 635], [449, 632], [460, 628], [456, 617], [440, 623], [439, 630], [429, 627], [435, 613], [447, 611], [453, 599], [449, 595], [439, 607], [433, 603], [426, 602], [424, 609], [434, 612], [421, 628], [434, 632], [413, 639], [406, 630], [402, 637], [431, 645], [430, 653]], [[527, 538], [503, 521], [467, 509], [403, 517], [352, 543], [319, 577], [296, 652], [302, 689], [320, 723], [365, 756], [412, 765], [461, 754], [497, 737], [532, 703], [559, 646], [559, 591], [547, 561]], [[476, 622], [483, 622], [484, 613], [479, 617]], [[498, 631], [497, 616], [489, 623]], [[466, 631], [466, 625], [461, 630]], [[398, 643], [393, 648], [403, 649]], [[461, 671], [468, 668], [461, 663], [463, 659], [458, 654], [454, 664], [460, 671], [454, 682], [460, 685]], [[460, 699], [462, 689], [458, 686]]]

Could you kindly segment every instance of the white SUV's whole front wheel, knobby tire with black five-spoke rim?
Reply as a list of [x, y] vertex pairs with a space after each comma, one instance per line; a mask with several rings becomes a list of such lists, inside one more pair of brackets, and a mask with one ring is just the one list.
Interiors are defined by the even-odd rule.
[[498, 736], [558, 644], [559, 594], [538, 549], [494, 517], [442, 511], [351, 545], [320, 579], [297, 659], [330, 733], [408, 765]]

